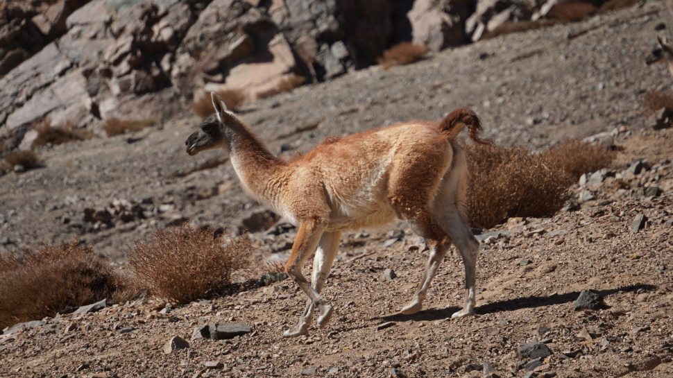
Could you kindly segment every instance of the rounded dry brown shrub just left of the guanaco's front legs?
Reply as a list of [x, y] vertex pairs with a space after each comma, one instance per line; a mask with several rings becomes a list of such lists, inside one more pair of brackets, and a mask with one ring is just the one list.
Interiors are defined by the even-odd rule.
[[127, 256], [139, 288], [176, 304], [226, 289], [232, 273], [248, 266], [253, 247], [247, 236], [213, 235], [210, 228], [185, 225], [157, 230], [151, 243], [136, 241]]

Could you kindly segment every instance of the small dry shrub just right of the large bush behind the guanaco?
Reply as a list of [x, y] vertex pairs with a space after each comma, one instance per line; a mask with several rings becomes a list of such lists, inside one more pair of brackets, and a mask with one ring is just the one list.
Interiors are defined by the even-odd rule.
[[574, 180], [584, 173], [591, 173], [610, 166], [617, 153], [599, 144], [581, 140], [568, 141], [542, 154], [552, 164], [570, 173]]

